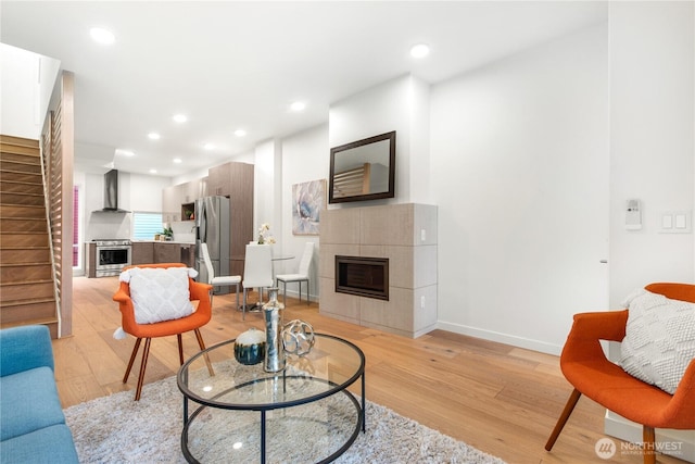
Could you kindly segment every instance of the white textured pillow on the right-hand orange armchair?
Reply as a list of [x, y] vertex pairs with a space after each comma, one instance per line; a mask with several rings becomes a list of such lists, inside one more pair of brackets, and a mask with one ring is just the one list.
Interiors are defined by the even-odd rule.
[[620, 366], [673, 394], [695, 358], [695, 304], [642, 290], [626, 305], [630, 312]]

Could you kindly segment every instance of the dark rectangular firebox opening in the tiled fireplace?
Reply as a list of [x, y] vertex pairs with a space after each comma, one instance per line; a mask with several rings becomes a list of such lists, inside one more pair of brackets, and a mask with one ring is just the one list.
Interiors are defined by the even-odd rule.
[[389, 259], [336, 255], [336, 291], [389, 300]]

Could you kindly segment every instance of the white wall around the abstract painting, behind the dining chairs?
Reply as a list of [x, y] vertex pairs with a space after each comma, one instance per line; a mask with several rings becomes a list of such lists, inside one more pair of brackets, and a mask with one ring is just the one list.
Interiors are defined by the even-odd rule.
[[[295, 134], [282, 140], [282, 230], [280, 239], [282, 252], [291, 254], [294, 260], [282, 262], [283, 273], [295, 273], [304, 252], [304, 243], [313, 241], [314, 261], [309, 275], [309, 298], [318, 299], [318, 236], [292, 234], [292, 186], [309, 180], [326, 180], [328, 189], [328, 170], [330, 149], [328, 147], [328, 125]], [[328, 197], [328, 192], [326, 192]], [[326, 199], [328, 201], [328, 199]], [[319, 223], [320, 224], [320, 223]], [[320, 226], [320, 225], [319, 225]], [[298, 296], [298, 285], [288, 286], [288, 293]]]

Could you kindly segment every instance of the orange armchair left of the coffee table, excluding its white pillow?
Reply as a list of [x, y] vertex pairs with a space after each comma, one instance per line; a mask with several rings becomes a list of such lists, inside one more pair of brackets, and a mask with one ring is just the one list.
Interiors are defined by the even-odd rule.
[[[166, 267], [186, 267], [186, 265], [181, 263], [139, 264], [137, 266], [126, 267], [124, 268], [124, 271], [130, 267], [164, 267], [166, 268]], [[132, 348], [132, 354], [130, 354], [130, 361], [128, 362], [128, 367], [126, 368], [126, 374], [123, 377], [124, 384], [128, 381], [128, 376], [130, 375], [130, 369], [132, 368], [132, 363], [135, 362], [135, 358], [138, 354], [140, 342], [144, 338], [144, 349], [142, 351], [142, 362], [140, 364], [140, 375], [138, 377], [138, 386], [135, 393], [135, 401], [140, 400], [140, 394], [142, 392], [142, 383], [144, 380], [144, 369], [148, 363], [148, 355], [150, 353], [150, 342], [152, 341], [152, 338], [176, 335], [176, 338], [178, 341], [178, 356], [179, 356], [180, 364], [184, 364], [184, 348], [181, 346], [181, 334], [184, 334], [185, 331], [193, 330], [195, 333], [195, 338], [198, 339], [198, 344], [200, 346], [201, 351], [205, 349], [203, 337], [200, 334], [200, 327], [207, 324], [212, 317], [210, 292], [212, 291], [213, 287], [207, 284], [197, 283], [190, 277], [188, 280], [189, 280], [190, 300], [199, 302], [198, 309], [193, 311], [191, 315], [181, 317], [178, 319], [164, 321], [164, 322], [159, 322], [154, 324], [138, 324], [135, 318], [135, 308], [132, 305], [132, 300], [130, 299], [129, 284], [121, 281], [121, 287], [118, 288], [118, 291], [116, 291], [116, 293], [113, 296], [113, 300], [118, 302], [118, 309], [121, 310], [123, 330], [137, 338], [135, 342], [135, 347]], [[207, 363], [207, 368], [211, 371], [210, 374], [214, 375], [212, 372], [212, 366], [210, 362]]]

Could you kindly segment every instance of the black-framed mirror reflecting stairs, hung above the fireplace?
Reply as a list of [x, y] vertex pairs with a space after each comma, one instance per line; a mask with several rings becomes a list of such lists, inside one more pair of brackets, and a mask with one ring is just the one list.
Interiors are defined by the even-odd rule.
[[330, 149], [328, 202], [395, 196], [395, 130]]

